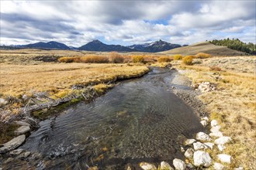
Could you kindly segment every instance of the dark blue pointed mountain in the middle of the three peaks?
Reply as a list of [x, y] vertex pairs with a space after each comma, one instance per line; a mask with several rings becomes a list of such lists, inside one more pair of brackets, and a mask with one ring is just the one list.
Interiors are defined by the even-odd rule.
[[107, 45], [99, 40], [93, 40], [92, 42], [88, 42], [84, 46], [78, 48], [79, 50], [85, 51], [117, 51], [117, 52], [137, 52], [137, 49], [130, 49], [126, 46], [120, 45]]

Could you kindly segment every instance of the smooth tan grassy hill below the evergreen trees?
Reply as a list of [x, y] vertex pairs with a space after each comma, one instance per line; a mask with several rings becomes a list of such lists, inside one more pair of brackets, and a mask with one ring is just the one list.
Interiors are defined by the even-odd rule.
[[182, 54], [195, 55], [197, 53], [209, 53], [212, 56], [244, 56], [246, 53], [240, 52], [234, 49], [229, 49], [227, 46], [215, 46], [209, 42], [199, 42], [192, 44], [191, 46], [182, 46], [180, 48], [171, 49], [168, 51], [161, 52], [163, 54], [175, 55]]

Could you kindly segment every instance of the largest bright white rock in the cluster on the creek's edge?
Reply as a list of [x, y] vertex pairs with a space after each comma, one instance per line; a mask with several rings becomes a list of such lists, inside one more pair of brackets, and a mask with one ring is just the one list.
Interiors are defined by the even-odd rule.
[[209, 167], [212, 164], [212, 158], [206, 151], [195, 151], [193, 159], [195, 166]]

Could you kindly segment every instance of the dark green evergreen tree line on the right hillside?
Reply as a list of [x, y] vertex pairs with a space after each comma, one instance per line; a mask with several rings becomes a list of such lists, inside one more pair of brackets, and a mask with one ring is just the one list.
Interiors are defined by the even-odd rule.
[[256, 55], [256, 45], [252, 42], [245, 43], [241, 42], [240, 39], [213, 39], [209, 41], [216, 46], [227, 46], [230, 49], [235, 49], [237, 51], [242, 51], [248, 54]]

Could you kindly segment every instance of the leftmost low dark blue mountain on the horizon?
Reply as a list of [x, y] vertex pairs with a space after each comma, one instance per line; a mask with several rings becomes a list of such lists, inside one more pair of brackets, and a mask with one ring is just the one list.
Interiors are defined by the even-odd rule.
[[33, 49], [70, 49], [64, 43], [61, 42], [36, 42], [32, 44], [19, 46], [21, 48], [33, 48]]

